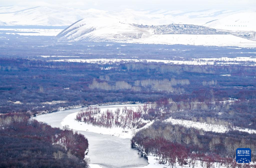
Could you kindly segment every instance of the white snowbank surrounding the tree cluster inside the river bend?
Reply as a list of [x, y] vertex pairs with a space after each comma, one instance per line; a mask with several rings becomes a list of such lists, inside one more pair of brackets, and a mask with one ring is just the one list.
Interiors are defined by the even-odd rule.
[[[143, 104], [129, 104], [129, 105], [127, 105], [127, 108], [132, 107], [133, 109], [135, 109], [139, 105], [143, 105]], [[114, 107], [111, 107], [111, 106], [114, 106]], [[100, 108], [100, 109], [101, 109], [101, 113], [105, 112], [107, 109], [114, 111], [119, 107], [122, 111], [123, 106], [124, 105], [110, 105], [108, 108]], [[93, 126], [93, 125], [90, 125], [90, 124], [87, 124], [84, 122], [76, 121], [75, 118], [76, 118], [77, 113], [79, 113], [79, 112], [72, 113], [72, 114], [69, 114], [68, 116], [66, 116], [63, 119], [63, 121], [61, 122], [61, 125], [63, 125], [63, 126], [69, 125], [69, 127], [71, 129], [90, 131], [90, 132], [99, 133], [99, 134], [107, 134], [107, 135], [117, 136], [120, 138], [132, 138], [132, 136], [134, 135], [134, 133], [136, 131], [142, 129], [142, 128], [140, 128], [140, 129], [136, 129], [136, 128], [123, 129], [120, 127], [113, 127], [113, 128], [97, 127], [97, 126]], [[153, 122], [148, 121], [148, 123], [143, 128], [150, 126], [152, 123]]]

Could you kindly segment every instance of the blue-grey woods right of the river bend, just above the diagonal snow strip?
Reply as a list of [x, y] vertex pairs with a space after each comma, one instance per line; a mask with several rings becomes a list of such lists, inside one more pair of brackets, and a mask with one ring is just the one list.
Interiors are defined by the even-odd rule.
[[160, 99], [152, 103], [158, 118], [185, 119], [199, 123], [256, 129], [256, 100], [229, 99], [226, 101], [199, 101], [198, 99]]

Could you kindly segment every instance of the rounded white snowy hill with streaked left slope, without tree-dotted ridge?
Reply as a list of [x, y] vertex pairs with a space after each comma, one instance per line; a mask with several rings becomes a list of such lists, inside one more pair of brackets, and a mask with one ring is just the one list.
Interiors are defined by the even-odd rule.
[[150, 37], [152, 33], [149, 28], [139, 28], [118, 19], [90, 18], [71, 25], [57, 37], [72, 41], [126, 41]]

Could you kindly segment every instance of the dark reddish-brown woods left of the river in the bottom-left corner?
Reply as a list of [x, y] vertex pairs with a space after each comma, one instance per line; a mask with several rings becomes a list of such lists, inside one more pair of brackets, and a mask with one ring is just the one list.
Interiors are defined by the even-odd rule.
[[89, 167], [88, 140], [64, 127], [52, 128], [29, 114], [0, 115], [0, 167]]

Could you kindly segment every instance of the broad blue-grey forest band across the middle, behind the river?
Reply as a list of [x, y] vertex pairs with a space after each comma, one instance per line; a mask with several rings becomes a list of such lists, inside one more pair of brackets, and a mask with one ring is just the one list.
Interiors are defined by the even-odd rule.
[[0, 78], [1, 113], [34, 114], [79, 104], [154, 102], [161, 98], [175, 102], [256, 98], [253, 66], [90, 64], [1, 58]]

